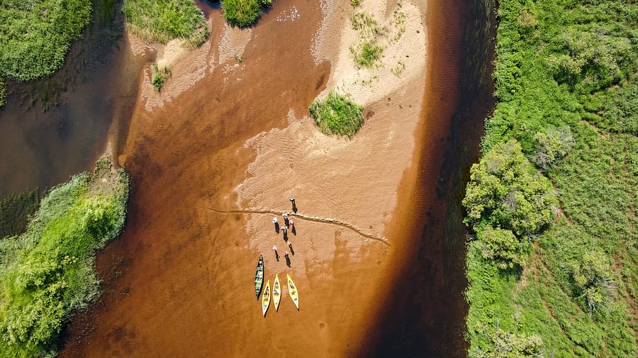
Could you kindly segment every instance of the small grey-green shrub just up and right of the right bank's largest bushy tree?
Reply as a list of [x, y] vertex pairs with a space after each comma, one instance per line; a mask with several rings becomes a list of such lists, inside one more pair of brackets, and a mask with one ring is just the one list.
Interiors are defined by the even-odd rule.
[[534, 140], [536, 154], [532, 157], [532, 162], [544, 170], [565, 157], [574, 143], [571, 129], [567, 126], [561, 128], [549, 126], [544, 132], [536, 133]]

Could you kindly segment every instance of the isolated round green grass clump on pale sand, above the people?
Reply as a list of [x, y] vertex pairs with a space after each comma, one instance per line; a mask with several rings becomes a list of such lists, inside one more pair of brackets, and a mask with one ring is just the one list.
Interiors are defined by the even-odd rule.
[[363, 107], [348, 96], [330, 91], [326, 99], [315, 99], [310, 116], [325, 134], [347, 135], [352, 138], [363, 124]]

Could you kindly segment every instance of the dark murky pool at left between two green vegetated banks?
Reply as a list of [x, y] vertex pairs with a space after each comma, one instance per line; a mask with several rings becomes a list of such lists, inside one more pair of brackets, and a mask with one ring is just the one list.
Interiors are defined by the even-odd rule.
[[94, 1], [93, 21], [60, 70], [9, 84], [0, 110], [0, 198], [91, 169], [109, 131], [127, 127], [147, 59], [130, 54], [120, 6]]

